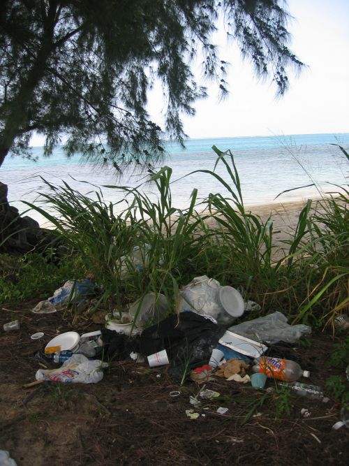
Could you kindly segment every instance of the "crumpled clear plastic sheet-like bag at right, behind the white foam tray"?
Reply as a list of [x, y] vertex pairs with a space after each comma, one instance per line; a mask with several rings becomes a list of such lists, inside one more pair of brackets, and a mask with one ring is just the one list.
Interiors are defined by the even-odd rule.
[[311, 333], [311, 327], [303, 324], [290, 326], [287, 321], [287, 317], [282, 312], [273, 312], [258, 319], [239, 323], [228, 330], [251, 340], [269, 344], [280, 341], [295, 343], [302, 335]]

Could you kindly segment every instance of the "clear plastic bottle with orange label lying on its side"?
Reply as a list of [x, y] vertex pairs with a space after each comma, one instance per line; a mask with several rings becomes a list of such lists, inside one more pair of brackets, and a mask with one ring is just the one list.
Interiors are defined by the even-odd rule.
[[253, 372], [262, 372], [267, 374], [272, 379], [284, 380], [286, 382], [294, 382], [299, 377], [309, 377], [308, 370], [302, 370], [299, 364], [295, 361], [279, 358], [267, 358], [262, 356], [255, 360], [255, 365], [252, 367]]

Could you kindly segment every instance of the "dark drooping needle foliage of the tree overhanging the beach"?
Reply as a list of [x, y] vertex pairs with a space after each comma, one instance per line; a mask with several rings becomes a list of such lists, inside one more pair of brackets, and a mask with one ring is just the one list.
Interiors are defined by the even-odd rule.
[[[289, 14], [281, 0], [3, 0], [0, 6], [0, 166], [31, 157], [34, 131], [45, 154], [66, 138], [80, 152], [122, 171], [163, 158], [164, 137], [184, 140], [181, 114], [206, 96], [191, 64], [224, 95], [227, 62], [212, 43], [218, 17], [258, 76], [282, 95], [290, 67]], [[165, 126], [151, 121], [148, 91], [160, 80]]]

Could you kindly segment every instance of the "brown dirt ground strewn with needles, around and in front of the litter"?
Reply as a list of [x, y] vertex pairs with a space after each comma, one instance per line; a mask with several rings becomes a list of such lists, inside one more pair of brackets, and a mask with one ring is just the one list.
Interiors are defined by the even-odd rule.
[[[18, 466], [349, 464], [349, 430], [332, 430], [340, 410], [332, 399], [292, 396], [290, 415], [277, 418], [282, 399], [274, 391], [246, 421], [266, 391], [215, 377], [206, 388], [223, 398], [195, 409], [200, 417], [192, 420], [186, 416], [189, 396], [200, 388], [193, 382], [177, 386], [166, 367], [151, 370], [131, 359], [112, 362], [98, 384], [44, 382], [24, 388], [42, 367], [34, 354], [54, 335], [99, 328], [87, 321], [73, 326], [64, 312], [32, 314], [34, 304], [4, 306], [0, 312], [0, 449]], [[4, 333], [3, 323], [13, 318], [20, 320], [20, 330]], [[45, 333], [43, 339], [31, 340], [38, 331]], [[275, 345], [272, 355], [298, 361], [311, 371], [309, 383], [325, 387], [329, 375], [340, 373], [325, 365], [332, 337], [314, 333], [308, 342]], [[171, 391], [180, 394], [172, 397]], [[218, 407], [228, 412], [217, 414]], [[309, 417], [301, 415], [302, 408]]]

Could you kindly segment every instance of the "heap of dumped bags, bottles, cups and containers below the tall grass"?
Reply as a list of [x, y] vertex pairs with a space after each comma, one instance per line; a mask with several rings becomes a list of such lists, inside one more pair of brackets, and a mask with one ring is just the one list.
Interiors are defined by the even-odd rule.
[[[70, 280], [33, 312], [45, 313], [47, 308], [50, 313], [50, 306], [57, 310], [87, 303], [94, 289], [89, 279]], [[195, 277], [181, 289], [179, 314], [168, 312], [165, 296], [148, 293], [128, 312], [107, 314], [100, 330], [81, 336], [73, 331], [60, 333], [37, 351], [36, 357], [54, 368], [37, 370], [36, 380], [96, 384], [109, 366], [103, 361], [128, 358], [149, 367], [168, 366], [168, 375], [180, 385], [193, 381], [200, 386], [221, 377], [264, 389], [267, 379], [292, 387], [300, 377], [309, 377], [296, 362], [265, 355], [267, 345], [293, 344], [309, 335], [311, 328], [289, 325], [281, 312], [248, 319], [251, 309], [258, 309], [257, 303], [244, 301], [237, 289], [221, 286], [206, 275]], [[246, 321], [234, 325], [243, 314]], [[311, 397], [311, 386], [301, 385], [293, 387], [296, 393]], [[211, 392], [200, 393], [207, 400]]]

